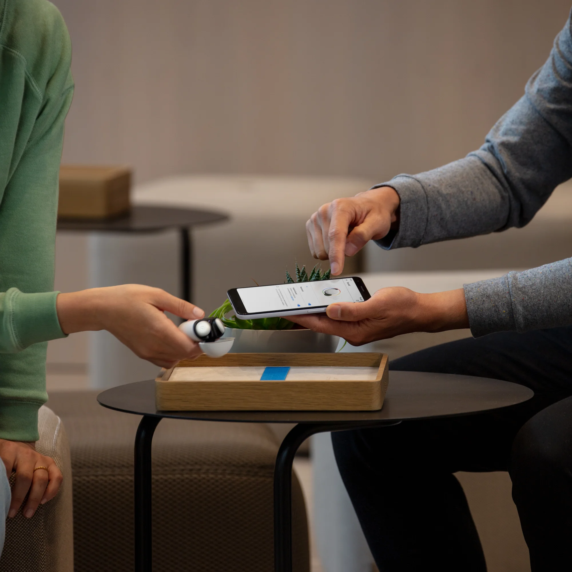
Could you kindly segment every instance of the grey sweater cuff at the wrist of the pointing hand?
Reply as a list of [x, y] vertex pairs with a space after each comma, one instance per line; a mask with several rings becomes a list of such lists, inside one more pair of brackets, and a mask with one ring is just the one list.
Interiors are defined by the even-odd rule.
[[375, 243], [386, 250], [423, 244], [429, 210], [423, 185], [411, 175], [398, 175], [372, 189], [379, 189], [380, 186], [391, 186], [399, 194], [399, 229]]

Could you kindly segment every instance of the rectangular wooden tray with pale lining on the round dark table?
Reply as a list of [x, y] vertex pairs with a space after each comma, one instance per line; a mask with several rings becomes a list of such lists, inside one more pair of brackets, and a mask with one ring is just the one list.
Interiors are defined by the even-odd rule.
[[[261, 381], [289, 366], [283, 381]], [[182, 360], [156, 379], [160, 411], [375, 411], [388, 384], [384, 353], [227, 353]]]

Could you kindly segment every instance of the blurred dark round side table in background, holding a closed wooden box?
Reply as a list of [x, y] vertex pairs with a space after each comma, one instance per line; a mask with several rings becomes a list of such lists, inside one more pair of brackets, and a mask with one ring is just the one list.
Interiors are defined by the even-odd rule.
[[181, 237], [181, 297], [190, 302], [191, 238], [190, 229], [203, 224], [228, 220], [224, 213], [211, 210], [169, 208], [165, 206], [133, 206], [127, 215], [112, 219], [58, 219], [58, 231], [150, 233], [178, 229]]

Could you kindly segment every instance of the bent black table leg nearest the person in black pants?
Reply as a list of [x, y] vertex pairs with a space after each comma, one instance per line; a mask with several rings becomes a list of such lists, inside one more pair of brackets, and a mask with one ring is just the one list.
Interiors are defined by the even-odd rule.
[[325, 431], [348, 431], [396, 425], [400, 421], [355, 423], [299, 423], [285, 436], [274, 469], [274, 570], [292, 572], [292, 463], [298, 447], [309, 437]]

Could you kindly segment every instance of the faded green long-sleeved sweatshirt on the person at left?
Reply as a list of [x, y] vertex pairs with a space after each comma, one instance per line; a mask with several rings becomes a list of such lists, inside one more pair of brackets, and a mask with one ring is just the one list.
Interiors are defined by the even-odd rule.
[[72, 46], [45, 0], [0, 0], [0, 438], [38, 439], [55, 311], [54, 243]]

